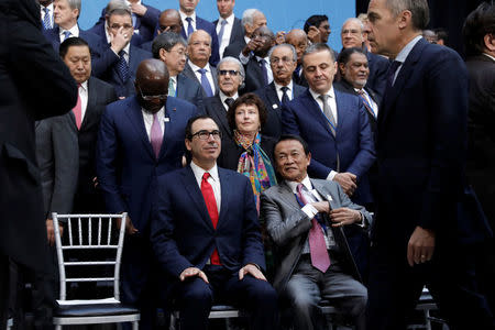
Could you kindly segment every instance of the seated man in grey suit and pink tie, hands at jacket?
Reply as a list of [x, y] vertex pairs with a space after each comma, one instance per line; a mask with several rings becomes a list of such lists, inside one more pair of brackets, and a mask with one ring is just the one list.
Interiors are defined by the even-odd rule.
[[334, 182], [310, 179], [307, 143], [282, 135], [274, 158], [284, 179], [262, 194], [261, 222], [277, 246], [273, 285], [289, 305], [295, 329], [321, 329], [318, 308], [327, 299], [364, 329], [366, 288], [342, 228], [366, 226], [371, 215]]

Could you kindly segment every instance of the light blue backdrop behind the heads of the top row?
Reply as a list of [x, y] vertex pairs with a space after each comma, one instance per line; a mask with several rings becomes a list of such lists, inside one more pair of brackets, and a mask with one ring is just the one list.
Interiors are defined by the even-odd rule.
[[[178, 9], [178, 0], [144, 0], [146, 4], [160, 10], [167, 8]], [[108, 0], [82, 0], [82, 10], [79, 18], [79, 25], [82, 29], [91, 28], [101, 14], [101, 10], [107, 6]], [[288, 31], [302, 25], [307, 18], [312, 14], [326, 14], [329, 18], [332, 33], [329, 37], [329, 45], [336, 51], [340, 51], [340, 28], [348, 19], [354, 16], [355, 1], [351, 0], [238, 0], [235, 1], [234, 14], [242, 16], [242, 12], [249, 8], [257, 8], [264, 12], [268, 21], [268, 28], [274, 33], [277, 31]], [[218, 18], [217, 1], [199, 1], [196, 12], [202, 19], [215, 21]]]

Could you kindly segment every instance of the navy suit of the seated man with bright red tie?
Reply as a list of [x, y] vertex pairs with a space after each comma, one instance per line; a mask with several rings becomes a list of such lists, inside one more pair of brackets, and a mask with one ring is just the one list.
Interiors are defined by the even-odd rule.
[[[275, 290], [251, 275], [243, 280], [238, 277], [239, 270], [249, 263], [265, 268], [253, 189], [241, 174], [223, 168], [218, 168], [218, 174], [221, 206], [216, 229], [190, 166], [158, 177], [154, 194], [153, 250], [170, 276], [170, 292], [180, 309], [180, 329], [207, 328], [213, 294], [249, 308], [254, 329], [272, 329]], [[206, 265], [215, 249], [221, 266]], [[180, 282], [178, 277], [187, 267], [205, 270], [210, 284], [199, 277]]]

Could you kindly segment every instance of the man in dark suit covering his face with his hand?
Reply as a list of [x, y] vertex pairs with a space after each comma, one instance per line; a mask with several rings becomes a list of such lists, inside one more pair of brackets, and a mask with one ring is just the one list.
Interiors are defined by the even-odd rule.
[[113, 58], [107, 68], [96, 76], [111, 84], [116, 88], [119, 98], [125, 98], [135, 94], [134, 78], [139, 64], [152, 54], [130, 43], [132, 36], [131, 12], [125, 9], [114, 9], [108, 13], [108, 29], [112, 40], [122, 41], [119, 44], [111, 43]]

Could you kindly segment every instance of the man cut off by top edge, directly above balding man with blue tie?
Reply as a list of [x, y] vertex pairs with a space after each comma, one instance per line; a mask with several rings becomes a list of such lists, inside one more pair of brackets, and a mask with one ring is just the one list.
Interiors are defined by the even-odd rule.
[[180, 35], [187, 40], [193, 32], [197, 30], [205, 30], [208, 32], [211, 36], [210, 64], [212, 66], [217, 66], [220, 61], [220, 55], [218, 53], [218, 36], [215, 25], [196, 14], [196, 6], [198, 6], [199, 0], [178, 0], [178, 2], [180, 19], [183, 21], [183, 30]]

